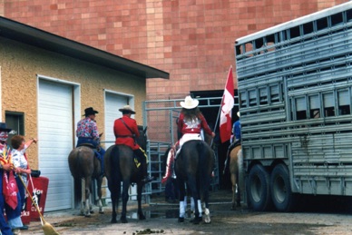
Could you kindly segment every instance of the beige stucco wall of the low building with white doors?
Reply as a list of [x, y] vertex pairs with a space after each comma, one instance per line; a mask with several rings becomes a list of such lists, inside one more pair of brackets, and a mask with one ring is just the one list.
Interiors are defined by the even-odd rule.
[[[99, 132], [104, 131], [103, 89], [134, 95], [135, 119], [142, 124], [142, 102], [145, 101], [145, 79], [112, 69], [88, 64], [61, 54], [19, 44], [0, 37], [2, 84], [2, 121], [5, 111], [24, 113], [25, 138], [38, 136], [37, 74], [81, 84], [81, 113], [92, 106]], [[116, 110], [116, 114], [119, 111]], [[104, 136], [103, 136], [104, 140]], [[40, 142], [40, 140], [39, 140]], [[37, 146], [28, 149], [29, 164], [38, 166]]]

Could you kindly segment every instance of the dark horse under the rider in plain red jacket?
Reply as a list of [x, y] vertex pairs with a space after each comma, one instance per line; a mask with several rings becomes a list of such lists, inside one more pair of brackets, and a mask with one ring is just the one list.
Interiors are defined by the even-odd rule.
[[[147, 128], [144, 130], [142, 126], [138, 126], [140, 131], [140, 138], [136, 141], [145, 150], [147, 135]], [[137, 168], [133, 161], [133, 151], [126, 145], [112, 145], [105, 152], [104, 155], [105, 176], [108, 180], [108, 188], [111, 192], [112, 199], [112, 223], [116, 223], [116, 209], [118, 208], [119, 199], [121, 196], [121, 183], [122, 183], [122, 212], [121, 222], [127, 223], [126, 207], [129, 200], [128, 190], [131, 183], [137, 184], [137, 201], [138, 201], [138, 217], [139, 220], [145, 220], [142, 212], [142, 188], [143, 188], [143, 172], [142, 166]]]

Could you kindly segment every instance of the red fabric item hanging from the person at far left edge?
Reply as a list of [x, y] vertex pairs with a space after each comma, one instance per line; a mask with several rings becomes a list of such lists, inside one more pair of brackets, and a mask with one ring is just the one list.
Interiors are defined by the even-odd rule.
[[4, 171], [3, 175], [3, 193], [5, 196], [5, 202], [9, 205], [12, 209], [15, 210], [17, 207], [17, 183], [15, 181], [14, 172], [10, 171], [8, 176], [6, 171]]

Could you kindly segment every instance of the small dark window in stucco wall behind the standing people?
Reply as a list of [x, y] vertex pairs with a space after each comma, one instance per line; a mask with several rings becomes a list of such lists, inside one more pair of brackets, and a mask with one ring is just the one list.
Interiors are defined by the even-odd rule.
[[24, 135], [24, 113], [5, 111], [5, 122], [6, 125], [12, 129], [7, 139], [7, 144], [11, 146], [11, 138], [14, 135]]

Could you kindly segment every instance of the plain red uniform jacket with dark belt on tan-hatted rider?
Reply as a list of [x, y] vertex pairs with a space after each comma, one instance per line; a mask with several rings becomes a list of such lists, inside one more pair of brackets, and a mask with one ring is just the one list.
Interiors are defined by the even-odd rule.
[[135, 135], [136, 138], [140, 136], [140, 132], [138, 131], [137, 122], [128, 117], [127, 115], [122, 116], [123, 121], [126, 123], [128, 127], [130, 127], [131, 131], [124, 125], [122, 120], [116, 119], [113, 123], [113, 133], [115, 134], [116, 141], [115, 144], [124, 144], [130, 146], [132, 150], [137, 150], [140, 148], [138, 143], [134, 142], [132, 134]]

